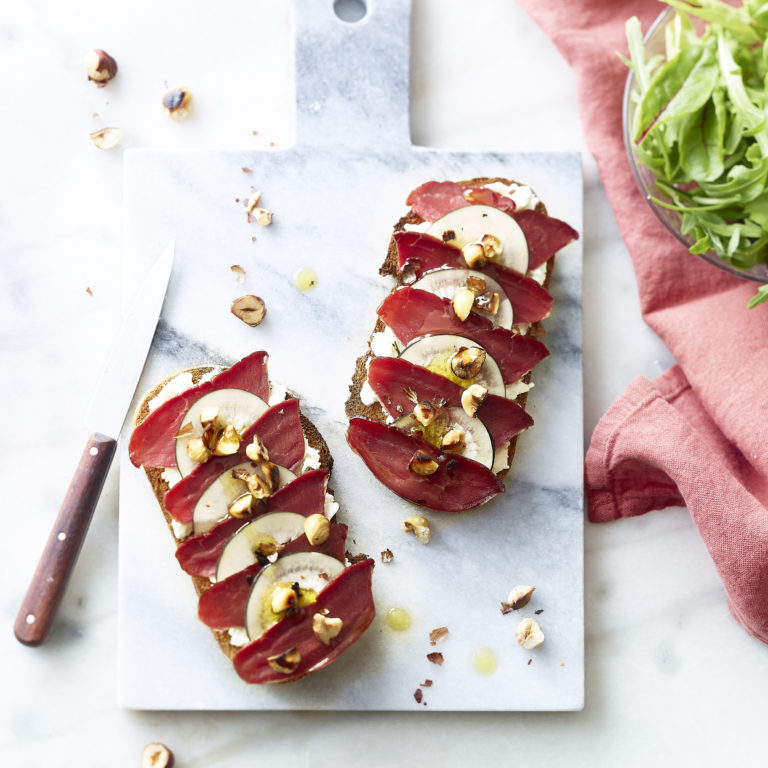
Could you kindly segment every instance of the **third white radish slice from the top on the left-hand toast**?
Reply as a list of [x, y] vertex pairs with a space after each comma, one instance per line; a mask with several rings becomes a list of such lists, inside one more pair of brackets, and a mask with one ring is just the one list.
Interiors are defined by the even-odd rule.
[[304, 533], [304, 515], [298, 512], [268, 512], [254, 518], [230, 536], [216, 564], [216, 581], [223, 581], [259, 560], [277, 552], [280, 545]]

